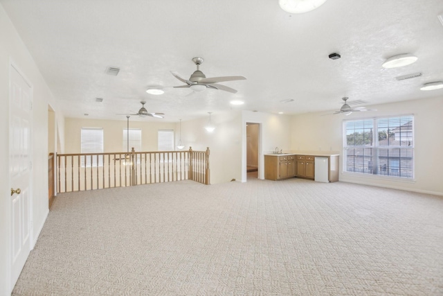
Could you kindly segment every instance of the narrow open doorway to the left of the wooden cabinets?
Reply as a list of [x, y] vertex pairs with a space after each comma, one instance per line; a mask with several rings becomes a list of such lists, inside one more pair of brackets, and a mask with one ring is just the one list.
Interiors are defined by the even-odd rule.
[[260, 124], [246, 123], [246, 175], [257, 179], [259, 171]]

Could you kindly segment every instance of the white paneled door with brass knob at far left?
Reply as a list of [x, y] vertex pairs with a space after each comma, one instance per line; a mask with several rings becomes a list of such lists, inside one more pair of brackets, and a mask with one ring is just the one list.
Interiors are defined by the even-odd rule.
[[[30, 122], [32, 89], [10, 67], [9, 180], [11, 186], [11, 287], [15, 286], [30, 252]], [[12, 189], [15, 192], [12, 192]], [[12, 288], [11, 288], [12, 289]]]

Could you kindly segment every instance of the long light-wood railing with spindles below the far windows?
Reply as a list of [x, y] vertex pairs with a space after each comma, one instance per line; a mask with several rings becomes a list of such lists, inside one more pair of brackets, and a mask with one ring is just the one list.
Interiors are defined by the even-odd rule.
[[57, 193], [179, 180], [210, 184], [206, 151], [57, 154]]

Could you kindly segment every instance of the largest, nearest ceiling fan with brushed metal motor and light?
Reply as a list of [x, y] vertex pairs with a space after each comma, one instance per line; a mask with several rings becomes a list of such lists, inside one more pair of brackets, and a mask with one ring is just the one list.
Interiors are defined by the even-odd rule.
[[182, 88], [187, 87], [192, 89], [194, 92], [201, 92], [206, 88], [209, 89], [220, 89], [225, 92], [230, 92], [235, 94], [237, 92], [236, 89], [227, 87], [226, 85], [220, 85], [217, 82], [224, 82], [224, 81], [233, 81], [233, 80], [245, 80], [243, 76], [223, 76], [223, 77], [213, 77], [213, 78], [206, 78], [205, 74], [200, 71], [200, 65], [204, 62], [203, 58], [193, 58], [192, 62], [195, 62], [197, 65], [197, 70], [192, 73], [189, 79], [182, 78], [179, 73], [176, 71], [171, 71], [172, 75], [174, 75], [175, 78], [180, 80], [181, 82], [186, 83], [186, 85], [180, 85], [174, 88]]

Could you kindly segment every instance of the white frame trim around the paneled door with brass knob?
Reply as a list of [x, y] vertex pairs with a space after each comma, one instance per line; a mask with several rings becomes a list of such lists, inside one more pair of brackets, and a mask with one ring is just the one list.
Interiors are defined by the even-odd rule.
[[[11, 108], [12, 108], [12, 104], [11, 104], [11, 92], [10, 92], [10, 82], [12, 79], [12, 71], [17, 71], [17, 73], [19, 73], [19, 75], [21, 76], [21, 78], [23, 78], [24, 82], [26, 82], [26, 84], [29, 86], [30, 88], [30, 103], [31, 103], [31, 110], [30, 110], [30, 118], [29, 118], [29, 136], [28, 136], [28, 141], [29, 141], [29, 159], [30, 159], [30, 168], [29, 168], [29, 178], [28, 178], [28, 192], [29, 192], [29, 205], [28, 205], [28, 214], [29, 214], [29, 219], [28, 219], [28, 227], [29, 227], [29, 240], [28, 240], [28, 244], [29, 244], [29, 250], [33, 250], [36, 241], [34, 240], [34, 227], [33, 227], [33, 200], [34, 200], [34, 196], [33, 196], [33, 101], [34, 101], [34, 86], [33, 84], [30, 82], [30, 80], [26, 77], [26, 75], [24, 74], [23, 71], [21, 71], [20, 67], [10, 58], [9, 59], [9, 69], [8, 69], [8, 74], [9, 74], [9, 83], [8, 83], [8, 142], [9, 142], [9, 137], [10, 137], [10, 128], [11, 128]], [[10, 145], [8, 144], [8, 158], [10, 157]], [[9, 167], [10, 167], [10, 162], [8, 161], [8, 188], [12, 188], [12, 184], [11, 184], [11, 177], [10, 177], [10, 173], [9, 173]], [[9, 235], [8, 238], [6, 238], [6, 241], [8, 243], [8, 279], [6, 279], [8, 281], [9, 286], [9, 291], [12, 293], [12, 289], [14, 288], [14, 285], [12, 285], [12, 207], [11, 207], [11, 200], [10, 200], [10, 196], [8, 195], [8, 227], [9, 227]]]

